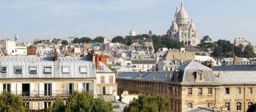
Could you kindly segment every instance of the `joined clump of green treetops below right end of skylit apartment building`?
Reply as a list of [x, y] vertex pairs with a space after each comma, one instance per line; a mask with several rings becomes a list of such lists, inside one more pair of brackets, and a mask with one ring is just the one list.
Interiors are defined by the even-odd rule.
[[54, 105], [52, 105], [48, 111], [66, 111], [66, 112], [111, 112], [111, 103], [107, 103], [99, 98], [94, 98], [92, 95], [86, 92], [73, 92], [72, 97], [64, 105], [62, 100], [56, 100]]

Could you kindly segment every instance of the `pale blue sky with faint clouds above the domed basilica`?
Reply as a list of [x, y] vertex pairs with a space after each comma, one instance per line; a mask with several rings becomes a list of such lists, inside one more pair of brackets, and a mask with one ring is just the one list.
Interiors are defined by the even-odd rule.
[[[185, 0], [200, 38], [244, 37], [256, 45], [255, 0]], [[1, 0], [0, 39], [166, 34], [180, 0]]]

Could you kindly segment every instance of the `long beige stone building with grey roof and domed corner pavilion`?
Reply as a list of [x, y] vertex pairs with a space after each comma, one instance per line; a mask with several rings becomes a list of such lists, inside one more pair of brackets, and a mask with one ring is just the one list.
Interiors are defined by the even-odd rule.
[[256, 68], [208, 68], [191, 61], [174, 72], [117, 73], [118, 94], [161, 95], [171, 111], [246, 111], [256, 103]]

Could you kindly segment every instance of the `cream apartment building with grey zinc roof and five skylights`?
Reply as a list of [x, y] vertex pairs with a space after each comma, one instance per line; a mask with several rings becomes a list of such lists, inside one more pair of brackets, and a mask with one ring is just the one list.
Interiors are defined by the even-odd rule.
[[2, 56], [0, 67], [0, 92], [21, 95], [31, 110], [43, 111], [74, 91], [98, 94], [94, 65], [85, 57]]

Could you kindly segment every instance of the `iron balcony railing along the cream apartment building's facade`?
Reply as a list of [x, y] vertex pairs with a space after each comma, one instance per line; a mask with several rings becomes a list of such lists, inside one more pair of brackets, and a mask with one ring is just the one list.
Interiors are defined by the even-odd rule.
[[[0, 91], [1, 93], [3, 91]], [[54, 91], [11, 91], [14, 95], [21, 95], [21, 97], [70, 97], [74, 90], [54, 90]], [[89, 92], [93, 95], [93, 90], [82, 90], [78, 92]]]

